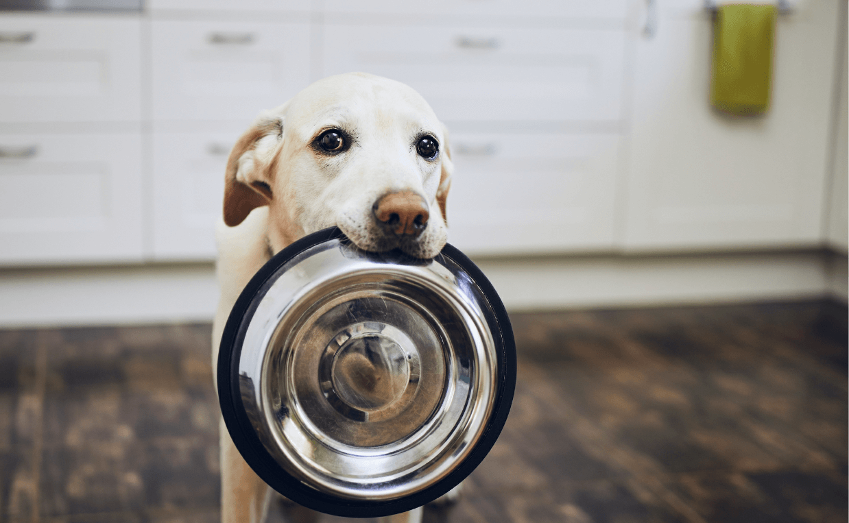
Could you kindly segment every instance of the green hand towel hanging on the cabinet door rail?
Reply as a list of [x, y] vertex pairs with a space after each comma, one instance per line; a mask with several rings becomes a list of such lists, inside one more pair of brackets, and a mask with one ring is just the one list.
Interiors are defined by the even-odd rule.
[[723, 5], [713, 26], [711, 104], [733, 115], [769, 108], [776, 9], [772, 5]]

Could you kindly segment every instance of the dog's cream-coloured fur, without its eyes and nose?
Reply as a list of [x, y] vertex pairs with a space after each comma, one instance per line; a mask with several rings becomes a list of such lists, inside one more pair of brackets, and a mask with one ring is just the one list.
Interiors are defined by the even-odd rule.
[[[350, 150], [329, 156], [315, 149], [315, 138], [330, 127], [351, 132]], [[416, 153], [415, 139], [423, 132], [440, 143], [437, 161]], [[447, 132], [424, 99], [378, 76], [331, 76], [263, 113], [228, 161], [224, 218], [216, 228], [221, 298], [212, 330], [213, 368], [239, 293], [273, 253], [295, 239], [336, 225], [365, 250], [399, 247], [413, 256], [436, 256], [447, 239], [443, 212], [453, 168], [448, 150]], [[373, 206], [383, 194], [402, 190], [424, 196], [430, 220], [418, 241], [396, 245], [381, 236]], [[221, 427], [222, 521], [259, 523], [269, 487]], [[391, 520], [420, 517], [415, 510]]]

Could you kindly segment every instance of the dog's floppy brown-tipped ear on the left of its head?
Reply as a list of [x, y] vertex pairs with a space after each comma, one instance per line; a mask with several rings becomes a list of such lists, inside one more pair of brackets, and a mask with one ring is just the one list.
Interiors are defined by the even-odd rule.
[[283, 138], [283, 108], [261, 115], [230, 151], [224, 174], [224, 223], [228, 227], [245, 221], [256, 207], [271, 203], [274, 173], [268, 156]]

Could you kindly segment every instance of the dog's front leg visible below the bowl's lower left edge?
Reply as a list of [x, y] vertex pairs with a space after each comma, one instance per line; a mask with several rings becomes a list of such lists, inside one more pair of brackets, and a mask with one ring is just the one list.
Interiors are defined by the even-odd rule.
[[221, 420], [222, 523], [262, 523], [269, 486], [245, 463]]

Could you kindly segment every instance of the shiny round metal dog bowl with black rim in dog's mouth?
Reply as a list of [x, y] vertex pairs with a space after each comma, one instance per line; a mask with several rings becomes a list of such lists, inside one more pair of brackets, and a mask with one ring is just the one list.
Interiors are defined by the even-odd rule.
[[262, 480], [311, 509], [375, 517], [438, 498], [481, 463], [515, 372], [504, 307], [460, 251], [364, 252], [331, 228], [251, 279], [217, 380]]

